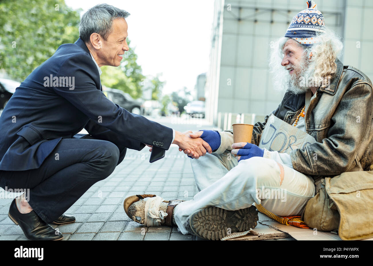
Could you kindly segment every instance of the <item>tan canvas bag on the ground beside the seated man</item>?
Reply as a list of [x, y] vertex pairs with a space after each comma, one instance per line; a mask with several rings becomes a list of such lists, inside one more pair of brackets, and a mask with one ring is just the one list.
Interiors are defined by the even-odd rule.
[[317, 194], [304, 209], [304, 222], [320, 231], [338, 229], [343, 240], [373, 237], [373, 171], [345, 172], [316, 180]]

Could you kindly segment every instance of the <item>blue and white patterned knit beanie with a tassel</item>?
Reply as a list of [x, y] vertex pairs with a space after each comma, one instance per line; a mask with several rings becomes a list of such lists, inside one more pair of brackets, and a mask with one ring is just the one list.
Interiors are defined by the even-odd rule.
[[316, 33], [325, 32], [323, 14], [317, 10], [314, 1], [307, 1], [307, 9], [299, 12], [291, 21], [285, 37], [292, 38], [304, 46], [320, 42]]

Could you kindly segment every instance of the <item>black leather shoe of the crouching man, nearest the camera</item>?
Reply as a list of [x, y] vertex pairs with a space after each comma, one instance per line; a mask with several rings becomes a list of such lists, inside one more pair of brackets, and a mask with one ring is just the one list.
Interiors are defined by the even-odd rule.
[[44, 222], [35, 211], [20, 213], [15, 199], [10, 204], [8, 216], [13, 223], [21, 227], [26, 238], [30, 240], [61, 240], [63, 238], [62, 233]]

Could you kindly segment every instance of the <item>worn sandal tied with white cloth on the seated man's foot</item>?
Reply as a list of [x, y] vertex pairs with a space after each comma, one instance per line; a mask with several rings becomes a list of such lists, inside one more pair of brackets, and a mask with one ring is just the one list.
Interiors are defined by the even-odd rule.
[[163, 200], [154, 194], [134, 195], [126, 198], [123, 208], [129, 218], [145, 226], [175, 226], [173, 210], [184, 200]]

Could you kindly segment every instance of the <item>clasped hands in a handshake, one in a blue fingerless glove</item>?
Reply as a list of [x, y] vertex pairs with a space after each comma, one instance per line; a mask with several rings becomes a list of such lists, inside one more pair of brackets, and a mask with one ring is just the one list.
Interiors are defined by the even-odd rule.
[[[201, 130], [195, 133], [191, 130], [183, 133], [175, 130], [175, 139], [172, 143], [179, 146], [179, 151], [184, 151], [189, 157], [198, 159], [206, 152], [212, 153], [219, 148], [220, 134], [213, 130]], [[153, 146], [147, 146], [151, 151]]]

